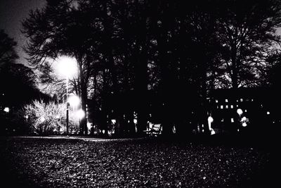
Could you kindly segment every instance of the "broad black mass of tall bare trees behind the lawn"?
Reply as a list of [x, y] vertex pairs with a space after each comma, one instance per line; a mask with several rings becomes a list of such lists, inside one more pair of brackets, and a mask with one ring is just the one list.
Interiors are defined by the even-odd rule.
[[73, 91], [105, 134], [115, 119], [119, 135], [143, 134], [157, 121], [163, 135], [186, 137], [210, 134], [207, 99], [215, 89], [268, 82], [280, 23], [280, 1], [62, 0], [32, 11], [22, 32], [31, 65], [47, 81], [47, 58], [77, 59]]

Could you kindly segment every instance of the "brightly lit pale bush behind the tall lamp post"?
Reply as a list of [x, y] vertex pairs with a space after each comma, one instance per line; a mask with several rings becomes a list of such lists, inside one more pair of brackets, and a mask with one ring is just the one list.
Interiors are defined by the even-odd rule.
[[[39, 134], [64, 133], [66, 130], [66, 104], [55, 104], [54, 102], [33, 101], [25, 106], [25, 117], [28, 123]], [[78, 121], [73, 111], [70, 111], [70, 130], [77, 132]]]

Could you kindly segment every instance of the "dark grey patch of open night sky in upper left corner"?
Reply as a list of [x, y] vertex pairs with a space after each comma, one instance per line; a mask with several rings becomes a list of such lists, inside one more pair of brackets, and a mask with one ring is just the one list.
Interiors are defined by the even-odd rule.
[[21, 34], [21, 22], [28, 17], [29, 11], [41, 8], [46, 4], [46, 0], [0, 0], [0, 30], [5, 32], [18, 42], [16, 51], [18, 52], [17, 63], [27, 64], [22, 45], [26, 39]]

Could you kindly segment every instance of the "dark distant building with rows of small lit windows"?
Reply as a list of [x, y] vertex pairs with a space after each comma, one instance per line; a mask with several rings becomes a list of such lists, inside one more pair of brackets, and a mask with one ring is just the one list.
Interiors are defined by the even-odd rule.
[[214, 118], [211, 127], [216, 133], [274, 131], [280, 123], [274, 96], [268, 88], [215, 89], [207, 99]]

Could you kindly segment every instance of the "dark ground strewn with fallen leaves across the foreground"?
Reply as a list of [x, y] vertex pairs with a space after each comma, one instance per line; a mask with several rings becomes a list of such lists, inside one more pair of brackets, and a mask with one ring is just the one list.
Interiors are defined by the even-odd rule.
[[252, 146], [77, 139], [0, 139], [11, 187], [268, 187], [272, 154]]

